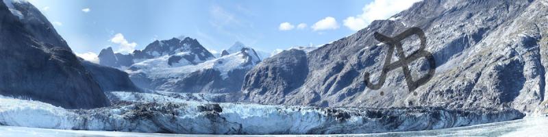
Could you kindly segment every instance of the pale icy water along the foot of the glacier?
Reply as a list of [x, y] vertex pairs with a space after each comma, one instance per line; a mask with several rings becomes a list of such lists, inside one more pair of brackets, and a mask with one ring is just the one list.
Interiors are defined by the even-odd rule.
[[[547, 136], [548, 118], [527, 118], [516, 121], [490, 123], [470, 127], [456, 127], [419, 132], [391, 132], [382, 134], [349, 134], [349, 135], [300, 135], [300, 136]], [[61, 129], [38, 129], [29, 127], [0, 126], [0, 136], [213, 136], [188, 134], [144, 134], [128, 132], [95, 132]], [[279, 136], [279, 135], [271, 135]], [[285, 135], [295, 136], [295, 135]]]

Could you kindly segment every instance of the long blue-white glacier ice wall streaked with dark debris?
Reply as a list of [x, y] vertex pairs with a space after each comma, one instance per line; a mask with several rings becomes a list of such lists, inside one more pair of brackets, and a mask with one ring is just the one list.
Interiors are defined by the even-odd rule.
[[[521, 119], [515, 110], [366, 109], [206, 103], [142, 93], [114, 93], [119, 103], [66, 110], [47, 103], [0, 99], [0, 125], [177, 134], [362, 134], [461, 127]], [[151, 99], [151, 100], [148, 100]]]

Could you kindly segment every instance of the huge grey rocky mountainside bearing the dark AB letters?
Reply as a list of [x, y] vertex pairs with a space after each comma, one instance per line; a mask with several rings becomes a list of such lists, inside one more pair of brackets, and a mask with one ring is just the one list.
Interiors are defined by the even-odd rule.
[[[373, 21], [356, 34], [307, 53], [308, 76], [299, 88], [265, 88], [287, 94], [257, 94], [248, 101], [370, 108], [510, 108], [532, 112], [546, 100], [547, 5], [545, 1], [526, 0], [421, 1], [390, 20]], [[416, 88], [416, 95], [408, 91], [401, 69], [388, 72], [379, 90], [367, 88], [363, 74], [371, 73], [373, 84], [378, 83], [388, 49], [375, 40], [373, 33], [396, 36], [410, 27], [425, 32], [425, 50], [436, 60], [434, 77]], [[406, 55], [419, 47], [414, 36], [402, 43]], [[395, 62], [397, 57], [392, 60]], [[408, 65], [414, 79], [429, 70], [424, 58]], [[285, 64], [262, 62], [257, 68], [261, 66], [276, 68]], [[253, 93], [276, 85], [277, 79], [269, 77], [282, 72], [251, 71], [248, 75], [258, 77], [250, 77], [242, 90]]]

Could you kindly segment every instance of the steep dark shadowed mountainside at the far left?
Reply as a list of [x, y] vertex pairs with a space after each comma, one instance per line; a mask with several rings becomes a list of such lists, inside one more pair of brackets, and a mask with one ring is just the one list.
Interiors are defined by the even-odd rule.
[[13, 3], [24, 18], [0, 2], [0, 94], [63, 108], [110, 103], [51, 23], [27, 2]]

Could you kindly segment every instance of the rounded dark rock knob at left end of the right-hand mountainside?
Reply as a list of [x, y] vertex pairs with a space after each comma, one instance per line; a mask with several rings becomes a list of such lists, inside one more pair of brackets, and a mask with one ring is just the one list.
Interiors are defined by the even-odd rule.
[[[299, 88], [308, 75], [306, 53], [291, 49], [267, 58], [245, 75], [242, 90], [250, 101], [269, 103]], [[279, 102], [277, 102], [279, 103]]]

